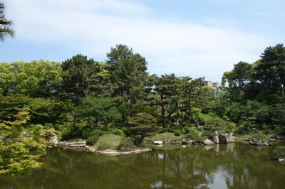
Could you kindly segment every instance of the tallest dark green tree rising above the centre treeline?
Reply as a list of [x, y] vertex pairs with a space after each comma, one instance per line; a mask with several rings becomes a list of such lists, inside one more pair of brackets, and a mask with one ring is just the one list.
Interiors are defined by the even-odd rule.
[[147, 77], [147, 61], [133, 53], [126, 45], [116, 45], [107, 54], [110, 81], [114, 85], [113, 97], [120, 102], [138, 102]]

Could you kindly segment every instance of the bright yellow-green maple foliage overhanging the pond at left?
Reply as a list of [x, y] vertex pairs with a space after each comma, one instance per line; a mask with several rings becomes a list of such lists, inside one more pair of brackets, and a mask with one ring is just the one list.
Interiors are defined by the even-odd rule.
[[0, 122], [0, 175], [14, 176], [41, 167], [38, 159], [46, 153], [43, 137], [53, 131], [43, 131], [39, 124], [27, 129], [28, 110], [19, 109], [14, 121]]

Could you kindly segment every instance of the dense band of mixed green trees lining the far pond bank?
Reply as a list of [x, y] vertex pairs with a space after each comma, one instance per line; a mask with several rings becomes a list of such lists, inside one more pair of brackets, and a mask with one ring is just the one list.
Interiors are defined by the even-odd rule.
[[90, 145], [120, 135], [122, 146], [161, 132], [195, 140], [253, 128], [285, 134], [284, 54], [276, 45], [255, 63], [235, 64], [222, 87], [207, 86], [203, 77], [148, 75], [145, 58], [126, 45], [111, 48], [106, 63], [84, 55], [0, 63], [0, 174], [40, 166], [46, 139], [56, 132]]

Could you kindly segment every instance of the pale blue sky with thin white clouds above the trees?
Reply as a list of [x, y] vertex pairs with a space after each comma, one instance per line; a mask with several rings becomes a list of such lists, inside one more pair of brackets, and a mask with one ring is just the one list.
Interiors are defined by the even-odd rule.
[[4, 0], [15, 38], [0, 62], [55, 60], [77, 53], [105, 60], [123, 43], [145, 56], [150, 73], [220, 81], [240, 60], [284, 43], [283, 0]]

